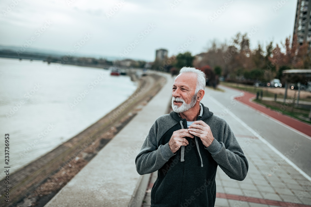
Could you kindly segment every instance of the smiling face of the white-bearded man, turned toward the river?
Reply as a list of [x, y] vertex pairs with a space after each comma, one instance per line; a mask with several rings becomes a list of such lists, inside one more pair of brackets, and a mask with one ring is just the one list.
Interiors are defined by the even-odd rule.
[[172, 90], [172, 108], [174, 112], [185, 112], [197, 102], [195, 94], [197, 75], [182, 73], [175, 78]]

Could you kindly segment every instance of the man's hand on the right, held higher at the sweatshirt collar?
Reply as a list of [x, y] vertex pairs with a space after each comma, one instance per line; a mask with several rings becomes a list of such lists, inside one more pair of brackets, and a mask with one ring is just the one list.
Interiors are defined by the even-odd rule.
[[202, 120], [194, 121], [192, 125], [189, 126], [188, 130], [190, 134], [199, 137], [205, 147], [210, 146], [214, 140], [210, 126]]

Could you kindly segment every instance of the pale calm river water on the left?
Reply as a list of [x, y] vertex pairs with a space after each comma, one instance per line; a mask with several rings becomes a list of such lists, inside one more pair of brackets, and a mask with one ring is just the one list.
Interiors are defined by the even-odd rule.
[[[0, 58], [0, 166], [10, 166], [12, 173], [43, 156], [136, 89], [130, 77], [110, 76], [104, 69]], [[9, 134], [9, 165], [5, 134]]]

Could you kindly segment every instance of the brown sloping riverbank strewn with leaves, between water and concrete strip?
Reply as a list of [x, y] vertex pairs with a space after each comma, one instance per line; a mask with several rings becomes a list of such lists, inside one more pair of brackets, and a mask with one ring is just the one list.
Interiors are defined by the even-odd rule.
[[[129, 70], [132, 80], [136, 70]], [[113, 111], [66, 143], [10, 175], [10, 206], [43, 206], [109, 142], [163, 86], [165, 78], [149, 74]], [[4, 183], [4, 181], [0, 181]], [[3, 188], [3, 189], [2, 189]], [[4, 186], [0, 187], [3, 192]], [[4, 196], [0, 197], [1, 206]]]

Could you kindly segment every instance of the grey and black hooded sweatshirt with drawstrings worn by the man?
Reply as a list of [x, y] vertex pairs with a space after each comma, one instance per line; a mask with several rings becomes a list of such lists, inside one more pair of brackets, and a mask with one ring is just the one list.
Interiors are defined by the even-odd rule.
[[209, 147], [186, 137], [189, 144], [173, 153], [168, 145], [173, 132], [187, 128], [186, 119], [173, 111], [156, 119], [135, 159], [139, 174], [158, 171], [151, 206], [214, 206], [217, 165], [232, 179], [246, 177], [248, 162], [229, 125], [200, 104], [197, 120], [209, 125], [215, 138]]

